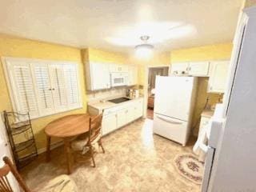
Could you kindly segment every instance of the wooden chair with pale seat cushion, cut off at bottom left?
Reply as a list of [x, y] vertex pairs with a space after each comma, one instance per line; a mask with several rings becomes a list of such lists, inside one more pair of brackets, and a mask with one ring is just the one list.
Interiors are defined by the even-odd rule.
[[[24, 192], [31, 192], [31, 190], [26, 186], [26, 183], [23, 181], [20, 174], [16, 170], [13, 163], [10, 161], [10, 158], [4, 157], [3, 161], [5, 165], [0, 168], [0, 191], [1, 192], [14, 192], [10, 186], [7, 175], [12, 173], [14, 178], [16, 178], [18, 185], [22, 188]], [[66, 174], [62, 174], [57, 178], [50, 180], [42, 189], [36, 190], [41, 192], [78, 192], [78, 188], [75, 185], [74, 181]]]

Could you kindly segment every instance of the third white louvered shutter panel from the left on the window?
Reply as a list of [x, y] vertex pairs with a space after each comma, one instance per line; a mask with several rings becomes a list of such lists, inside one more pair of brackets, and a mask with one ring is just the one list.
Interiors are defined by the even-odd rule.
[[64, 79], [64, 67], [63, 65], [50, 65], [50, 80], [51, 89], [54, 98], [55, 110], [62, 111], [67, 110], [66, 101], [66, 86]]

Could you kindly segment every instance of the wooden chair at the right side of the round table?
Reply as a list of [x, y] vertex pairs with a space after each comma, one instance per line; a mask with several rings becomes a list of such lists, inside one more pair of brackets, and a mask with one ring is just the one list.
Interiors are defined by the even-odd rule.
[[[82, 135], [83, 138], [78, 138], [71, 143], [71, 147], [73, 150], [82, 151], [82, 154], [86, 152], [90, 152], [90, 158], [92, 159], [93, 166], [95, 167], [94, 161], [94, 150], [93, 144], [98, 143], [98, 146], [102, 148], [103, 153], [105, 150], [102, 146], [102, 114], [98, 114], [94, 118], [90, 118], [90, 130], [87, 136]], [[86, 151], [88, 149], [88, 151]]]

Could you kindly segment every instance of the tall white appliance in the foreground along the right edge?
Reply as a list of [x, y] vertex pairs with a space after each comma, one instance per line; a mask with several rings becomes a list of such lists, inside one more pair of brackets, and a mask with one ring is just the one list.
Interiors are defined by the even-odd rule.
[[208, 130], [202, 192], [256, 191], [256, 6], [241, 14], [223, 106]]

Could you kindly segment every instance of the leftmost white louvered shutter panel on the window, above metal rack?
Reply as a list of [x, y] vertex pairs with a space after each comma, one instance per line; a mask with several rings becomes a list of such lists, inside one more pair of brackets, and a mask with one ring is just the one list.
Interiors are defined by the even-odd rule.
[[7, 62], [11, 90], [13, 90], [15, 109], [19, 113], [30, 113], [31, 118], [38, 116], [38, 106], [34, 94], [30, 64], [26, 62]]

